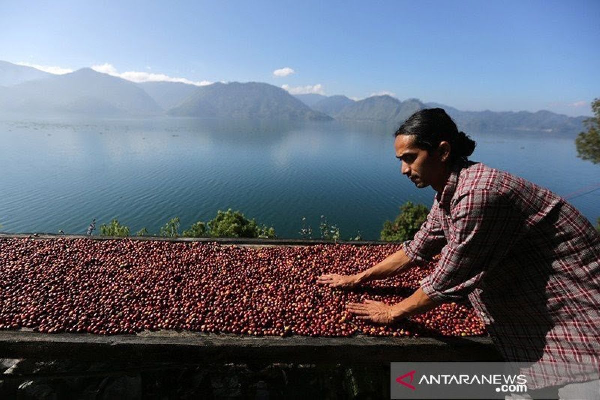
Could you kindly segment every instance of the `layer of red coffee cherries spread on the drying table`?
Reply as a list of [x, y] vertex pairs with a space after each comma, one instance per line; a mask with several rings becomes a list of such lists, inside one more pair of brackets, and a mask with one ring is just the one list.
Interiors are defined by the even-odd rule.
[[352, 291], [323, 273], [368, 269], [400, 245], [224, 246], [151, 240], [0, 239], [0, 329], [134, 334], [188, 330], [253, 336], [481, 336], [470, 306], [445, 304], [382, 327], [350, 302], [410, 296], [435, 263]]

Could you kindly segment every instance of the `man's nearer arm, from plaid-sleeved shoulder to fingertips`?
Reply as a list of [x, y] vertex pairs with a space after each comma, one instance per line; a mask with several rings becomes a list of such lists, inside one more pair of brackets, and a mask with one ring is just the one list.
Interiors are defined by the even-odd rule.
[[[442, 258], [415, 294], [393, 306], [367, 301], [352, 303], [348, 310], [362, 320], [388, 324], [429, 311], [436, 304], [463, 299], [481, 284], [489, 270], [502, 263], [521, 224], [518, 211], [499, 194], [469, 191], [452, 209]], [[410, 255], [410, 248], [408, 252]]]

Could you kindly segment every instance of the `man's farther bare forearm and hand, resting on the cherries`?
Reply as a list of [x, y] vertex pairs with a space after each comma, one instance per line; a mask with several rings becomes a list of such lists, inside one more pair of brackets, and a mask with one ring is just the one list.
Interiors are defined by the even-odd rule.
[[322, 275], [317, 280], [317, 283], [334, 288], [352, 288], [366, 282], [399, 275], [415, 265], [416, 263], [410, 260], [406, 255], [406, 252], [404, 252], [404, 248], [401, 248], [399, 251], [366, 271], [350, 276], [337, 275], [335, 273]]

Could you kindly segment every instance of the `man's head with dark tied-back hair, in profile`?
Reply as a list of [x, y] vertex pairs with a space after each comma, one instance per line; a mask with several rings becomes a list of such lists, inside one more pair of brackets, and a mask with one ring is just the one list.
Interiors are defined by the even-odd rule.
[[454, 164], [466, 161], [475, 150], [475, 142], [459, 132], [442, 109], [413, 114], [395, 136], [402, 173], [419, 189], [431, 186], [442, 191]]

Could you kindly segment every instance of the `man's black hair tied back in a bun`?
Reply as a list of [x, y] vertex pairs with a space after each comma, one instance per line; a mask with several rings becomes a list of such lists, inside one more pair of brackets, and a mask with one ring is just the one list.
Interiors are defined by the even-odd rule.
[[452, 163], [466, 161], [475, 151], [475, 140], [459, 132], [452, 118], [443, 109], [421, 110], [410, 116], [395, 133], [415, 136], [415, 146], [431, 154], [442, 142], [450, 143]]

